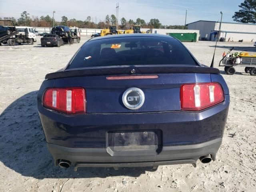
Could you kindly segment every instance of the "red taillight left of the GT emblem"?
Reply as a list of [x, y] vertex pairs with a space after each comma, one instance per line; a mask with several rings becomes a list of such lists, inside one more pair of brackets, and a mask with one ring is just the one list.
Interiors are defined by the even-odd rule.
[[44, 92], [43, 105], [67, 114], [86, 112], [86, 94], [83, 88], [49, 88]]

